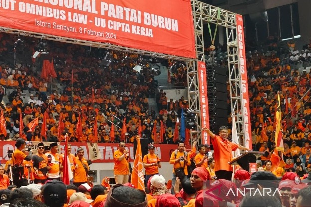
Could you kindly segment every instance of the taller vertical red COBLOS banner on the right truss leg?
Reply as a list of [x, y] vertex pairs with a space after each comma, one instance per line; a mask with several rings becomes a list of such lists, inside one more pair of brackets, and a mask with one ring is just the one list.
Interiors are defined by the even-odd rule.
[[237, 39], [239, 49], [239, 68], [241, 72], [241, 88], [242, 88], [242, 110], [244, 112], [244, 140], [245, 147], [252, 149], [252, 135], [251, 135], [251, 119], [249, 110], [249, 97], [248, 97], [248, 84], [247, 84], [247, 72], [246, 72], [246, 56], [245, 56], [245, 43], [244, 43], [244, 29], [243, 29], [243, 17], [236, 15], [237, 22]]

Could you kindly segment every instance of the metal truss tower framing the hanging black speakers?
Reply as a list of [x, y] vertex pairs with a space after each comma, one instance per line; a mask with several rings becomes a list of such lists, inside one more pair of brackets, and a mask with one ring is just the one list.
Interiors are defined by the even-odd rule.
[[[239, 67], [239, 50], [237, 41], [237, 23], [236, 14], [230, 11], [223, 10], [218, 7], [208, 5], [206, 3], [191, 0], [192, 13], [194, 20], [194, 34], [196, 44], [196, 57], [197, 60], [187, 61], [187, 79], [188, 79], [188, 97], [189, 108], [201, 114], [199, 88], [198, 88], [198, 73], [197, 61], [205, 62], [204, 57], [204, 38], [203, 38], [203, 25], [207, 23], [217, 24], [226, 28], [227, 37], [227, 52], [228, 52], [228, 70], [229, 70], [229, 84], [230, 84], [230, 104], [231, 110], [235, 111], [237, 132], [239, 140], [244, 134], [244, 121], [242, 110], [242, 82]], [[191, 131], [191, 138], [197, 134], [201, 138], [201, 125], [199, 115], [196, 117], [198, 131]], [[245, 143], [241, 143], [245, 146]]]

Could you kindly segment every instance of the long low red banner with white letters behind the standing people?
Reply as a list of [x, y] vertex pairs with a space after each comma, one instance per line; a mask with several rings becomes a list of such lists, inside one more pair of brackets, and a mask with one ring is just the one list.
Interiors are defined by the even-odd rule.
[[[0, 161], [2, 164], [4, 164], [9, 158], [7, 157], [7, 150], [14, 150], [15, 149], [15, 143], [14, 141], [12, 142], [6, 142], [6, 141], [1, 141], [0, 142]], [[38, 148], [38, 143], [39, 142], [32, 142], [32, 149], [37, 149]], [[51, 142], [50, 142], [51, 143]], [[45, 146], [48, 146], [50, 143], [44, 142]], [[84, 157], [86, 159], [89, 159], [89, 148], [87, 143], [70, 143], [72, 150], [71, 153], [75, 154], [77, 149], [79, 147], [82, 147], [84, 149]], [[170, 155], [171, 153], [177, 149], [176, 144], [155, 144], [155, 154], [161, 159], [161, 162], [169, 162]], [[65, 148], [65, 142], [61, 142], [59, 146], [59, 154], [64, 153], [64, 148]], [[94, 160], [92, 162], [94, 163], [108, 163], [108, 162], [114, 162], [113, 158], [113, 153], [118, 149], [118, 144], [103, 144], [103, 143], [98, 143], [98, 148], [101, 153], [101, 159]], [[191, 150], [190, 145], [186, 146], [187, 151]], [[134, 152], [134, 145], [133, 144], [126, 144], [126, 149], [129, 151], [130, 154], [130, 161], [133, 162], [135, 152]], [[5, 158], [4, 158], [5, 157]]]

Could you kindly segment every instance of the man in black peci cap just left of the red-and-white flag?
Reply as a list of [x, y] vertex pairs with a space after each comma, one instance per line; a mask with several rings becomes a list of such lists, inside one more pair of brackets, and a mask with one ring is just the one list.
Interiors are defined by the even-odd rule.
[[50, 167], [48, 170], [47, 180], [60, 180], [60, 167], [59, 167], [59, 154], [57, 142], [50, 144], [51, 151], [45, 153], [47, 157], [47, 166]]

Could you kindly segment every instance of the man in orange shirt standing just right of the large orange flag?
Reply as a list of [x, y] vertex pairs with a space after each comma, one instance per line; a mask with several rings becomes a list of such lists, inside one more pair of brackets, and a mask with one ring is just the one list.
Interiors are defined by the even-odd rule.
[[147, 186], [147, 182], [150, 177], [155, 174], [158, 174], [158, 169], [162, 167], [160, 158], [155, 154], [155, 146], [148, 146], [148, 154], [143, 158], [143, 166], [145, 168], [145, 186]]

